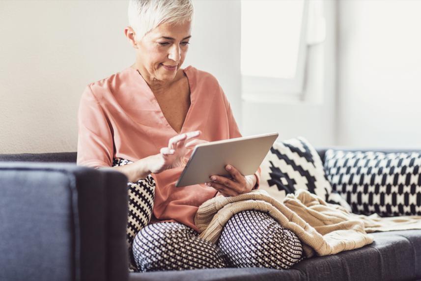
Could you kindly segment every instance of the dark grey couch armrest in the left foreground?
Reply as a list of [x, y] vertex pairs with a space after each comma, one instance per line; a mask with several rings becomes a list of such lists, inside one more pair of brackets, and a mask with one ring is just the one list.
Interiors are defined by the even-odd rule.
[[0, 280], [127, 280], [127, 177], [0, 162]]

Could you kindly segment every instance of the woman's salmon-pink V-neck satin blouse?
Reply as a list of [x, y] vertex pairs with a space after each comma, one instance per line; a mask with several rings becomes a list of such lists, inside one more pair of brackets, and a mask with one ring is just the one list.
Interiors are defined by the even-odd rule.
[[[181, 133], [201, 130], [199, 139], [208, 141], [241, 137], [217, 79], [191, 65], [183, 71], [189, 81], [191, 105]], [[117, 157], [136, 162], [158, 154], [178, 135], [148, 84], [131, 67], [86, 86], [79, 105], [78, 132], [77, 164], [92, 168], [112, 167]], [[152, 173], [156, 188], [150, 223], [179, 222], [198, 231], [196, 211], [217, 191], [204, 184], [175, 187], [182, 170]], [[258, 188], [260, 168], [255, 176]]]

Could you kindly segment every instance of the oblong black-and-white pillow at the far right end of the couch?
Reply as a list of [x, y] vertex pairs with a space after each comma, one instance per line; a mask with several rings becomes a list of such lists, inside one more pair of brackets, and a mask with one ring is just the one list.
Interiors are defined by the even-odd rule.
[[421, 215], [421, 153], [329, 149], [325, 170], [357, 214]]

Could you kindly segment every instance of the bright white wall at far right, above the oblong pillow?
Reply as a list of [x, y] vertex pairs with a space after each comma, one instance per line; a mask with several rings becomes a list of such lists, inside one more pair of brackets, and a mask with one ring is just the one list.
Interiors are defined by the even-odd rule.
[[337, 144], [421, 147], [421, 1], [338, 1]]

